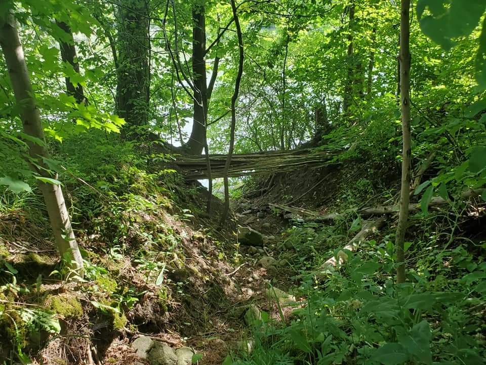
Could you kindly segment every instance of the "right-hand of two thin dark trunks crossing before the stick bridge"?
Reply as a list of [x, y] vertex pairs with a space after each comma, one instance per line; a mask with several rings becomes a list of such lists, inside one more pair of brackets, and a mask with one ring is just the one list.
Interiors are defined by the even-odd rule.
[[239, 48], [239, 60], [238, 60], [238, 74], [234, 82], [234, 92], [231, 97], [231, 131], [229, 137], [229, 151], [226, 163], [224, 165], [224, 206], [223, 213], [221, 215], [221, 225], [224, 224], [229, 211], [229, 186], [228, 186], [228, 170], [231, 163], [231, 156], [234, 149], [234, 130], [236, 126], [236, 100], [238, 99], [239, 85], [241, 83], [241, 75], [243, 74], [243, 62], [245, 59], [245, 53], [243, 49], [243, 35], [241, 34], [241, 27], [239, 25], [238, 14], [236, 13], [236, 4], [234, 0], [231, 0], [231, 9], [233, 10], [233, 19], [236, 26], [236, 34], [238, 35], [238, 48]]

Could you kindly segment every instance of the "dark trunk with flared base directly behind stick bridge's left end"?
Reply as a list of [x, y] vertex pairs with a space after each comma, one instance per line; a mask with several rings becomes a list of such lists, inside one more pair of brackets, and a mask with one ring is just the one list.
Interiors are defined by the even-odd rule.
[[205, 148], [208, 115], [208, 87], [206, 78], [206, 8], [205, 2], [192, 6], [192, 77], [194, 82], [194, 111], [191, 135], [187, 147], [193, 155]]

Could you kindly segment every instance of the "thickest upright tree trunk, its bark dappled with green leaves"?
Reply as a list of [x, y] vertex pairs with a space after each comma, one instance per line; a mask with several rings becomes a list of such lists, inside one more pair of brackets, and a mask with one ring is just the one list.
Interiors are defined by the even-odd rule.
[[[144, 0], [123, 0], [116, 11], [118, 18], [117, 112], [127, 122], [126, 127], [121, 131], [122, 136], [138, 138], [141, 133], [136, 127], [147, 124], [150, 98], [148, 9]], [[133, 129], [131, 137], [128, 135], [130, 128]]]

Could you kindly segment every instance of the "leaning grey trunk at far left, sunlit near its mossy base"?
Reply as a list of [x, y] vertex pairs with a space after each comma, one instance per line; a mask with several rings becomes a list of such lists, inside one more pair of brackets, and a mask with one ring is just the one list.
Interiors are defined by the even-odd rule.
[[[32, 85], [30, 83], [24, 52], [17, 32], [16, 19], [9, 14], [0, 18], [0, 45], [2, 46], [10, 80], [14, 89], [15, 99], [20, 106], [20, 118], [25, 134], [43, 141], [42, 145], [27, 140], [32, 170], [43, 176], [52, 177], [47, 173], [43, 158], [48, 158], [45, 146], [44, 130], [41, 116], [36, 105]], [[72, 269], [69, 276], [83, 275], [83, 258], [77, 246], [74, 232], [69, 220], [66, 204], [59, 185], [47, 184], [39, 180], [41, 190], [46, 202], [49, 219], [51, 221], [54, 238], [61, 258]]]

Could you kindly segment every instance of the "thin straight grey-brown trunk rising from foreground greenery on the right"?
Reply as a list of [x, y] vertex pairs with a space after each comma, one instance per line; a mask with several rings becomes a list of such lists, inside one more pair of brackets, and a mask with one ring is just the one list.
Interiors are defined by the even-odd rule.
[[405, 233], [409, 217], [411, 180], [411, 134], [410, 134], [410, 0], [401, 0], [400, 16], [400, 96], [403, 151], [401, 163], [400, 212], [396, 229], [395, 250], [398, 267], [396, 282], [405, 282], [404, 249]]

